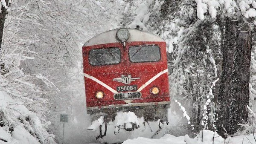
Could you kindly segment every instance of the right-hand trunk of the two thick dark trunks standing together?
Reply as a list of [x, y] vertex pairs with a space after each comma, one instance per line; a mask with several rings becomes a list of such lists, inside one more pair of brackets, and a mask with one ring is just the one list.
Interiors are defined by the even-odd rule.
[[237, 31], [234, 68], [232, 73], [232, 88], [230, 92], [230, 127], [229, 134], [239, 129], [239, 123], [247, 122], [250, 82], [250, 58], [252, 35], [249, 26]]

